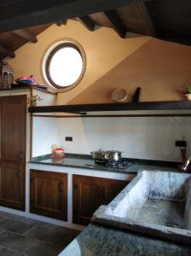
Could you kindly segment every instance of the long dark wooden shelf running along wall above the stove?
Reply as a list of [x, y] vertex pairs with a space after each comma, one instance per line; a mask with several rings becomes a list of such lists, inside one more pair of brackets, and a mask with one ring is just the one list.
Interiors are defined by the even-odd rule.
[[[177, 113], [168, 113], [169, 115], [190, 116], [191, 102], [188, 101], [173, 101], [173, 102], [128, 102], [128, 103], [102, 103], [102, 104], [82, 104], [82, 105], [58, 105], [58, 106], [42, 106], [29, 107], [29, 113], [75, 113], [80, 116], [129, 116], [130, 112], [135, 112], [133, 115], [139, 115], [140, 111], [154, 111], [149, 113], [153, 115], [166, 115], [161, 111], [177, 111]], [[187, 113], [178, 113], [180, 110], [187, 110]], [[190, 112], [188, 111], [190, 110]], [[160, 113], [159, 113], [160, 111]], [[138, 112], [138, 113], [137, 113]], [[148, 113], [146, 113], [147, 115]], [[145, 114], [144, 114], [145, 116]]]

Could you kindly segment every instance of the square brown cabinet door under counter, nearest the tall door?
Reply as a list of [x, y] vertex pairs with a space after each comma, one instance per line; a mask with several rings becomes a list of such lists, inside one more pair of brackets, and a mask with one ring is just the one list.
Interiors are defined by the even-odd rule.
[[31, 170], [30, 212], [67, 221], [67, 173]]

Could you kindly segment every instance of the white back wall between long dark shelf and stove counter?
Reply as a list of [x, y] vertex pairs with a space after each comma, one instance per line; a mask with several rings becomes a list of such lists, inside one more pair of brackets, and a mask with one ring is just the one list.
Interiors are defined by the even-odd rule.
[[[67, 152], [118, 149], [124, 157], [150, 160], [181, 160], [175, 141], [186, 136], [191, 154], [191, 117], [75, 118], [58, 119], [59, 141]], [[73, 142], [65, 142], [66, 136]]]

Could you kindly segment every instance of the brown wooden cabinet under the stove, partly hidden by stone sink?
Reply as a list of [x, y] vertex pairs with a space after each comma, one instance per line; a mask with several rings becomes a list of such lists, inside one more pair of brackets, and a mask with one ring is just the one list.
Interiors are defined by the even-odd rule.
[[96, 209], [112, 201], [127, 183], [116, 179], [73, 175], [73, 223], [89, 224]]

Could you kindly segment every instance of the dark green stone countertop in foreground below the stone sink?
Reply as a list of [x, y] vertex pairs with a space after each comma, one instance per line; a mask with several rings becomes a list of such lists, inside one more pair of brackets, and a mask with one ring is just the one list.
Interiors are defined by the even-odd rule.
[[90, 224], [59, 256], [190, 256], [191, 246]]

